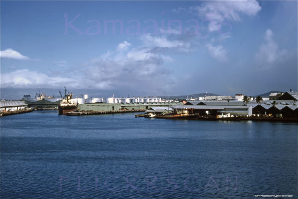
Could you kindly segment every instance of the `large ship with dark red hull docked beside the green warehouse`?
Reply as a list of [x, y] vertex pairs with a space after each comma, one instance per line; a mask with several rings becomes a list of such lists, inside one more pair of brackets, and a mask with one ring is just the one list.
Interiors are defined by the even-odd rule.
[[66, 115], [66, 113], [77, 109], [77, 100], [72, 99], [72, 93], [71, 94], [67, 93], [66, 87], [64, 87], [64, 88], [65, 88], [64, 98], [63, 98], [61, 92], [59, 91], [61, 98], [62, 98], [60, 105], [58, 106], [58, 112], [59, 112], [58, 114], [59, 115]]

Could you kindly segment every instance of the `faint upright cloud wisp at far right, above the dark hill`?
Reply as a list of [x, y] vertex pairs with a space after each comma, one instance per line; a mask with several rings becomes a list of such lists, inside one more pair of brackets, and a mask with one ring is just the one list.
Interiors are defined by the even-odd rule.
[[260, 46], [255, 58], [260, 62], [270, 64], [280, 61], [287, 54], [287, 50], [278, 50], [278, 45], [273, 39], [272, 30], [267, 29], [264, 38], [265, 42]]

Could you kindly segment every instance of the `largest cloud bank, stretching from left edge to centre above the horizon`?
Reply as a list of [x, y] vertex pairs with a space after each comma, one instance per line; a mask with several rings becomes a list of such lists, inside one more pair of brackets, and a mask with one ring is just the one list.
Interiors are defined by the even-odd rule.
[[[86, 61], [80, 68], [72, 68], [69, 76], [62, 78], [61, 71], [36, 72], [16, 70], [1, 74], [1, 87], [68, 87], [102, 89], [102, 90], [135, 90], [152, 93], [163, 93], [174, 87], [175, 79], [164, 62], [173, 62], [171, 53], [180, 53], [190, 49], [190, 42], [169, 39], [166, 36], [143, 35], [142, 44], [130, 49], [127, 41], [116, 46], [115, 52], [107, 53]], [[166, 50], [163, 50], [166, 49]], [[66, 61], [55, 61], [63, 66]], [[57, 69], [56, 69], [57, 70]]]

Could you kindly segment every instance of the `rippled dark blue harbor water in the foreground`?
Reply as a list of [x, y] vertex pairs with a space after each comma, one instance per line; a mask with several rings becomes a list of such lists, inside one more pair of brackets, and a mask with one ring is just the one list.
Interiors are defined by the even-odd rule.
[[0, 197], [298, 197], [297, 123], [134, 114], [1, 117]]

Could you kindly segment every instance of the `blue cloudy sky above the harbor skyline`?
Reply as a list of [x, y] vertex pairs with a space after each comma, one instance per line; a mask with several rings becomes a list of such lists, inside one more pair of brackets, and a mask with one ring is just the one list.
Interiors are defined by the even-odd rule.
[[1, 0], [1, 99], [297, 91], [297, 2]]

